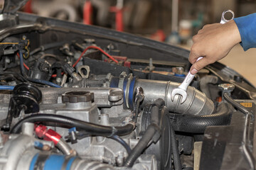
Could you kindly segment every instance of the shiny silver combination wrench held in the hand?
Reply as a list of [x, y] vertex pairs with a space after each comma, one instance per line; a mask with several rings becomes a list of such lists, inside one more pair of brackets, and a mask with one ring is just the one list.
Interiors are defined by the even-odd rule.
[[[234, 12], [231, 10], [228, 10], [228, 11], [224, 11], [222, 13], [220, 23], [226, 23], [226, 22], [230, 21], [230, 20], [225, 19], [225, 13], [231, 13], [232, 18], [230, 20], [233, 20]], [[198, 57], [198, 60], [201, 60], [202, 58], [203, 57]], [[196, 60], [196, 62], [198, 62], [198, 60]], [[174, 97], [176, 96], [176, 94], [179, 94], [182, 96], [181, 103], [184, 103], [184, 101], [186, 101], [186, 98], [187, 98], [186, 91], [188, 89], [188, 85], [191, 84], [191, 81], [193, 80], [194, 77], [195, 77], [195, 74], [191, 74], [191, 72], [189, 71], [188, 74], [186, 75], [185, 79], [183, 80], [182, 84], [180, 86], [178, 86], [178, 88], [171, 91], [171, 101], [174, 101]]]

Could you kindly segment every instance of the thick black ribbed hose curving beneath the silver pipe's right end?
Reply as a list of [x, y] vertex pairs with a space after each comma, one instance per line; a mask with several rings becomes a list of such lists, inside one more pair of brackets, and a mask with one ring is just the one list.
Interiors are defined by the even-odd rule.
[[211, 125], [228, 125], [233, 107], [228, 103], [220, 103], [217, 113], [212, 115], [179, 115], [170, 114], [171, 125], [175, 131], [203, 133]]

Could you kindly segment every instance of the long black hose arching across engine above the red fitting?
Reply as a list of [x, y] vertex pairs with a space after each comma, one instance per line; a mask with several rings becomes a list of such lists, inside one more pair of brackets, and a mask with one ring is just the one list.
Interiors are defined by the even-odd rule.
[[113, 135], [128, 135], [134, 130], [134, 124], [128, 123], [124, 126], [105, 126], [97, 125], [95, 123], [87, 123], [82, 120], [77, 120], [74, 118], [69, 118], [63, 115], [52, 115], [52, 114], [36, 114], [30, 115], [26, 118], [20, 120], [14, 128], [11, 129], [11, 133], [18, 133], [21, 130], [23, 123], [36, 123], [36, 122], [45, 122], [45, 123], [58, 123], [60, 125], [65, 125], [67, 128], [77, 128], [78, 130], [85, 130], [86, 132], [92, 135], [102, 135], [111, 137]]

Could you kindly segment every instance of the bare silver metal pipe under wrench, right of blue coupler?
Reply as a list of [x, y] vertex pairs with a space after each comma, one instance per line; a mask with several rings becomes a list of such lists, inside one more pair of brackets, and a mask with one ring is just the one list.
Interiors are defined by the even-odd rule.
[[[156, 98], [162, 98], [166, 102], [166, 107], [169, 112], [172, 113], [188, 115], [210, 115], [213, 113], [213, 101], [207, 98], [206, 94], [203, 94], [192, 86], [188, 86], [188, 96], [184, 103], [181, 104], [181, 96], [179, 95], [176, 95], [174, 101], [171, 101], [171, 91], [179, 85], [179, 83], [171, 81], [137, 79], [134, 88], [140, 86], [144, 90], [144, 101], [142, 106], [154, 101]], [[126, 96], [129, 96], [129, 94]]]

